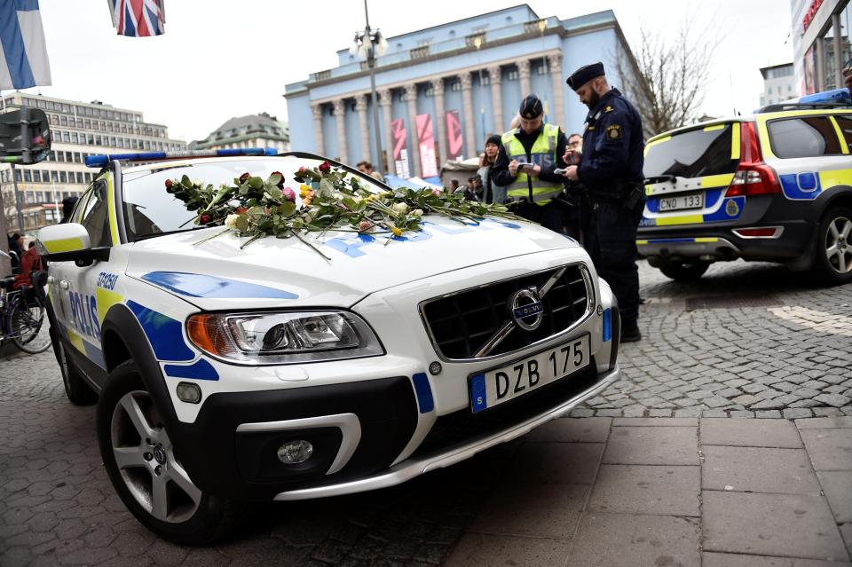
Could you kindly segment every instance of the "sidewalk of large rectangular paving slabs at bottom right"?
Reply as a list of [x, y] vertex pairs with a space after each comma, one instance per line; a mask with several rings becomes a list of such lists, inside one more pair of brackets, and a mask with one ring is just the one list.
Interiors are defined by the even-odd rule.
[[563, 418], [447, 565], [852, 565], [852, 417]]

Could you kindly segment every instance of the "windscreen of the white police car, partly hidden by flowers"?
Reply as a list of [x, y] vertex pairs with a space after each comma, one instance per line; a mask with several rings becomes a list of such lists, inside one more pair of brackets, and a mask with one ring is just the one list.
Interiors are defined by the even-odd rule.
[[[214, 187], [233, 185], [235, 177], [250, 173], [256, 177], [269, 177], [273, 171], [284, 175], [284, 186], [291, 187], [296, 193], [296, 205], [301, 205], [299, 199], [299, 182], [293, 174], [300, 168], [315, 168], [322, 163], [320, 160], [286, 156], [268, 159], [247, 160], [217, 160], [202, 161], [193, 164], [170, 165], [163, 164], [156, 169], [126, 172], [122, 176], [122, 192], [124, 201], [124, 226], [128, 240], [193, 228], [193, 219], [198, 211], [185, 208], [184, 201], [166, 193], [166, 179], [180, 179], [188, 176]], [[357, 173], [361, 185], [383, 191], [386, 187], [377, 185], [375, 179], [361, 176]]]

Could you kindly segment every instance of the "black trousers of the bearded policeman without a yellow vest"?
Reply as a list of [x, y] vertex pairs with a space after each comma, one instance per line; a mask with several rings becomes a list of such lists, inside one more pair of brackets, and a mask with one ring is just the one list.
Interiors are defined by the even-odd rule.
[[636, 228], [642, 218], [643, 202], [627, 209], [619, 201], [593, 206], [586, 249], [599, 276], [619, 300], [621, 320], [639, 319], [639, 269], [636, 267]]

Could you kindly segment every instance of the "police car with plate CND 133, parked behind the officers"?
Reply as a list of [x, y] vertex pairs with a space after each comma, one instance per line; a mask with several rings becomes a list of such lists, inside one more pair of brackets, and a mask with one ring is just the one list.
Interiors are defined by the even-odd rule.
[[639, 253], [675, 280], [744, 258], [852, 281], [850, 148], [846, 89], [651, 138]]

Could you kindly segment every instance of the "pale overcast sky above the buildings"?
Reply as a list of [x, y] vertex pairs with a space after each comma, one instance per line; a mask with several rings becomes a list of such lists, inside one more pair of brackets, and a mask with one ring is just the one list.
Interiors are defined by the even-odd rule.
[[[165, 124], [171, 138], [187, 142], [206, 138], [233, 116], [268, 112], [286, 120], [284, 85], [335, 67], [335, 51], [364, 28], [360, 0], [166, 0], [165, 35], [143, 38], [115, 35], [104, 0], [39, 4], [53, 85], [28, 91], [140, 110], [146, 121]], [[391, 36], [517, 4], [369, 0], [370, 22]], [[758, 69], [793, 59], [787, 0], [529, 4], [540, 17], [563, 20], [612, 9], [628, 43], [638, 42], [642, 28], [672, 34], [678, 21], [694, 14], [696, 38], [725, 38], [709, 62], [706, 114], [751, 111], [762, 91]], [[715, 25], [708, 26], [714, 16]], [[297, 149], [298, 140], [292, 143]]]

